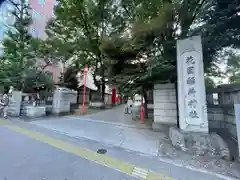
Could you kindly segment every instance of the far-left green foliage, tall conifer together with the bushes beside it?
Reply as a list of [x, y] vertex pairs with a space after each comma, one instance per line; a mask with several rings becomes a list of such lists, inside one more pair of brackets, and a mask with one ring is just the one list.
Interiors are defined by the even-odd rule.
[[47, 58], [44, 58], [45, 63], [41, 63], [41, 66], [37, 63], [44, 56], [45, 42], [33, 38], [29, 32], [32, 23], [31, 8], [26, 0], [9, 2], [14, 9], [11, 13], [15, 22], [3, 40], [0, 83], [27, 92], [42, 84], [51, 88], [53, 82], [42, 72], [46, 64], [49, 64], [46, 63]]

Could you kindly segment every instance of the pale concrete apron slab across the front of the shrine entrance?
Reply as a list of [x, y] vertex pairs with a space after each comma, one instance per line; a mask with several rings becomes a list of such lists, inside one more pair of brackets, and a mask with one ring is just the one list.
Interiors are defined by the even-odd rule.
[[159, 133], [150, 129], [72, 116], [29, 123], [70, 137], [81, 137], [152, 156], [158, 155]]

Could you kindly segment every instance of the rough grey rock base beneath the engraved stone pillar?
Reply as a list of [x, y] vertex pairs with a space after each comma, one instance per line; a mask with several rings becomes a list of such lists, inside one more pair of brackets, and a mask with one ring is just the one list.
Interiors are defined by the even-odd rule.
[[233, 159], [227, 143], [216, 133], [183, 132], [176, 127], [170, 127], [169, 138], [173, 146], [193, 155]]

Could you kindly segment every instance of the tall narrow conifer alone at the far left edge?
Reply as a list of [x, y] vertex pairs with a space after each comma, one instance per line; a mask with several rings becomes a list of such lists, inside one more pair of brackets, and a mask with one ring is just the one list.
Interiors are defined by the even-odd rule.
[[31, 35], [28, 32], [32, 20], [30, 8], [24, 0], [11, 3], [14, 7], [12, 15], [15, 22], [3, 40], [1, 79], [3, 83], [12, 83], [17, 89], [21, 89], [25, 70], [34, 65], [34, 55], [30, 46]]

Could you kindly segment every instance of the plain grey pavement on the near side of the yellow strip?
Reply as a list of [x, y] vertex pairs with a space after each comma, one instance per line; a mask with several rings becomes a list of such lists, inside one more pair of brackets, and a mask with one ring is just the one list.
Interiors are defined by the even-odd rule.
[[0, 127], [0, 179], [131, 180], [137, 179]]

